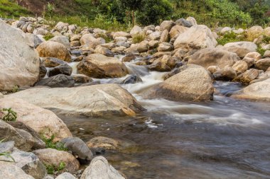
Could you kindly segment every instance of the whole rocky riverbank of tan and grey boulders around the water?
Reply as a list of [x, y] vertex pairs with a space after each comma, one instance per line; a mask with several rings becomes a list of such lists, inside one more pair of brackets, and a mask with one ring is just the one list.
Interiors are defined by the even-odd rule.
[[[213, 81], [221, 80], [247, 86], [232, 98], [270, 101], [270, 42], [263, 40], [270, 28], [210, 30], [189, 17], [136, 25], [127, 33], [62, 22], [52, 27], [43, 18], [21, 17], [0, 20], [0, 32], [0, 119], [8, 119], [0, 120], [0, 176], [5, 178], [126, 178], [102, 156], [117, 149], [117, 140], [83, 142], [48, 109], [86, 117], [145, 111], [121, 87], [141, 83], [126, 65], [135, 59], [138, 67], [167, 72], [161, 83], [141, 92], [145, 99], [209, 101]], [[255, 38], [217, 45], [218, 38], [231, 32]], [[124, 80], [100, 80], [115, 78]]]

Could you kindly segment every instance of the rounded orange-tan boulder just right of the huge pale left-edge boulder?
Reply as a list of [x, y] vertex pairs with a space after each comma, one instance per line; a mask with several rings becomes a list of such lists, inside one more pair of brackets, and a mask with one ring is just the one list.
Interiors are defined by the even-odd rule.
[[70, 53], [65, 45], [60, 42], [47, 41], [36, 48], [40, 57], [55, 57], [66, 62], [71, 61]]

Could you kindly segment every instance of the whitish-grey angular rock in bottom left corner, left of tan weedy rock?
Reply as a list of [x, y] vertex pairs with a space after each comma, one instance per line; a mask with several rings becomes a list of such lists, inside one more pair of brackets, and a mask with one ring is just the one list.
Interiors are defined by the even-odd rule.
[[[13, 151], [10, 155], [15, 161], [13, 164], [21, 168], [26, 174], [33, 176], [33, 178], [43, 179], [47, 175], [45, 166], [35, 154], [26, 151]], [[0, 156], [2, 161], [13, 162], [12, 158]]]

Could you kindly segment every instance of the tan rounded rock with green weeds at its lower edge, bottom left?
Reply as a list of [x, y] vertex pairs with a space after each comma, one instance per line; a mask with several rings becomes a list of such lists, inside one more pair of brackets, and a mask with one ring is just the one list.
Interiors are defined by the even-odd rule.
[[49, 166], [60, 166], [60, 163], [65, 163], [65, 170], [75, 172], [79, 170], [80, 163], [75, 156], [66, 152], [58, 151], [56, 149], [39, 149], [33, 151], [36, 156], [45, 164]]

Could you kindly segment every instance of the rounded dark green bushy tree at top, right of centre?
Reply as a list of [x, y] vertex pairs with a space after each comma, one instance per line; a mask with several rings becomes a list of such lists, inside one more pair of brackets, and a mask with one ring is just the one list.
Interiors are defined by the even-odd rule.
[[137, 18], [142, 25], [158, 24], [171, 18], [173, 6], [167, 0], [143, 0]]

